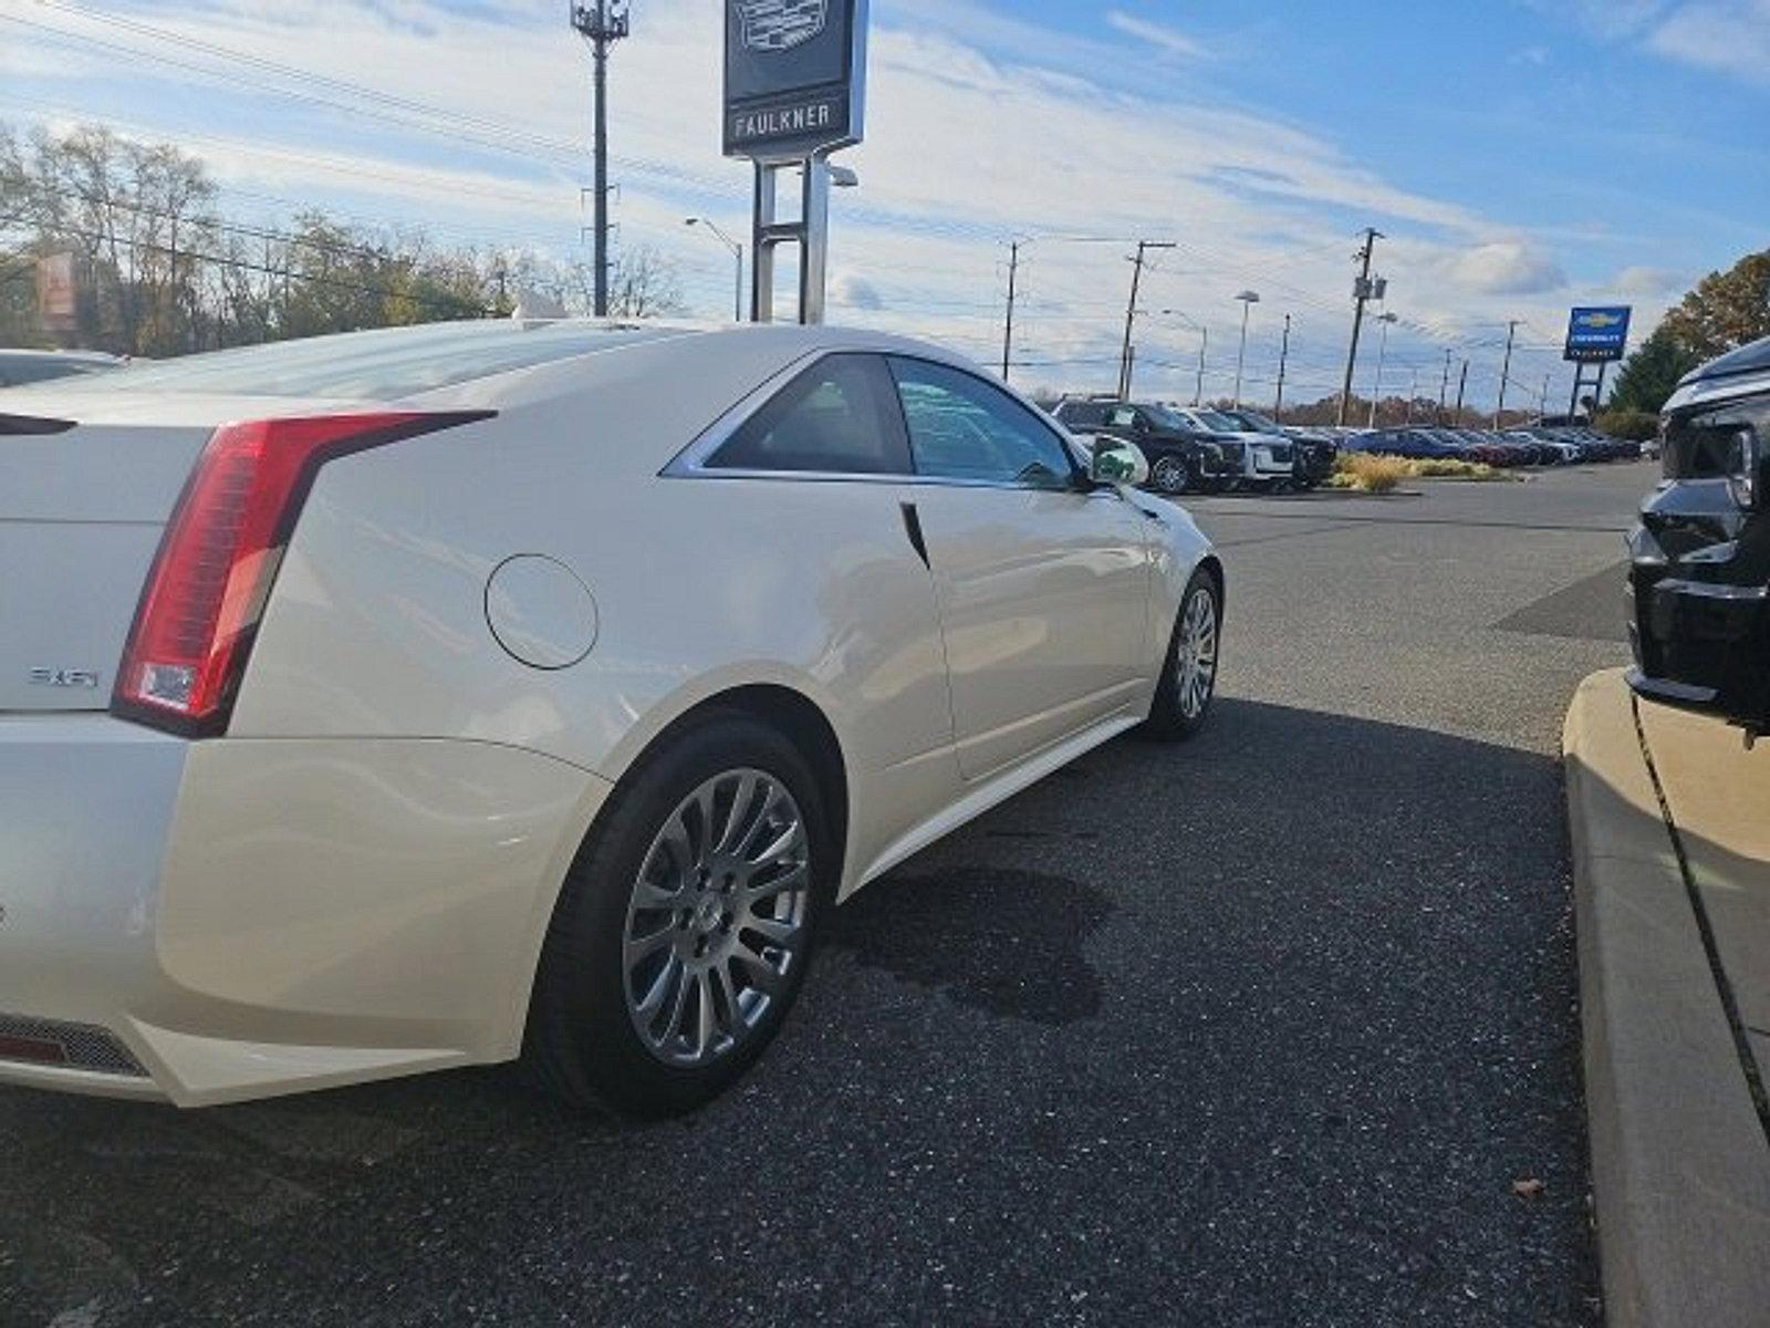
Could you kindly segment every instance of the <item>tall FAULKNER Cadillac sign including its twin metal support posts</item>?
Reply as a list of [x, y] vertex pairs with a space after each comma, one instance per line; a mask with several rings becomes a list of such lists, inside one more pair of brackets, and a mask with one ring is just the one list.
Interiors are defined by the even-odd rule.
[[[798, 244], [798, 320], [823, 322], [830, 152], [862, 136], [867, 0], [726, 0], [727, 158], [756, 166], [750, 319], [773, 320], [775, 248]], [[779, 177], [800, 174], [796, 221], [777, 214]]]

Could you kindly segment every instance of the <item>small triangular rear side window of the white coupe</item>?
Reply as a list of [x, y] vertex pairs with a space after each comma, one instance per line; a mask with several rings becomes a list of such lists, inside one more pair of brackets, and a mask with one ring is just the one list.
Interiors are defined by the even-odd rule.
[[708, 460], [724, 471], [908, 475], [885, 367], [873, 356], [825, 356], [788, 382]]

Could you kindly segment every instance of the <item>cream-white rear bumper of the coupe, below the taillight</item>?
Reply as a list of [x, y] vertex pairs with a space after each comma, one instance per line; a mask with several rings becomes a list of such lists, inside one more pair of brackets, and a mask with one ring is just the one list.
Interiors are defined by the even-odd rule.
[[0, 717], [0, 1082], [189, 1107], [508, 1059], [605, 793], [492, 744]]

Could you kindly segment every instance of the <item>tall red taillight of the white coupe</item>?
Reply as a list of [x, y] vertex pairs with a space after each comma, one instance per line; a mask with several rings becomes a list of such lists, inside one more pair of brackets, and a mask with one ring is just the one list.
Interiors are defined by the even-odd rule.
[[384, 411], [221, 425], [154, 556], [112, 710], [188, 737], [223, 731], [283, 547], [319, 467], [489, 414]]

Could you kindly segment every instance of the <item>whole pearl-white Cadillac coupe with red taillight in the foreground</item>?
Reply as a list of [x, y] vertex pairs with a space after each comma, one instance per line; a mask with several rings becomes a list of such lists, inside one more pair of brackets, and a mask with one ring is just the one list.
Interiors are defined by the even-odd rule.
[[690, 1108], [823, 910], [1142, 724], [1223, 568], [935, 347], [473, 322], [0, 391], [0, 1080]]

